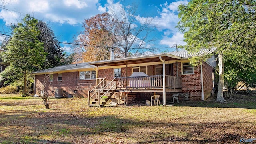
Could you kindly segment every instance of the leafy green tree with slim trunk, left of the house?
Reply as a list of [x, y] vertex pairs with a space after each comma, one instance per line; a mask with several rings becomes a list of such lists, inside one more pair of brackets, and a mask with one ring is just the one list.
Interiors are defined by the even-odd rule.
[[26, 94], [26, 73], [40, 69], [45, 62], [44, 43], [37, 38], [40, 31], [36, 26], [38, 21], [26, 15], [21, 23], [12, 25], [12, 35], [2, 52], [2, 60], [14, 68], [20, 68], [24, 76], [24, 94]]

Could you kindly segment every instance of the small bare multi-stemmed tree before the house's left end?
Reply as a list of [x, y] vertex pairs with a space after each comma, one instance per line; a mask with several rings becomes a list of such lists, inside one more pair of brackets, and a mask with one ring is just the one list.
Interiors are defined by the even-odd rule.
[[49, 99], [50, 99], [50, 84], [49, 80], [52, 76], [52, 73], [50, 72], [49, 74], [44, 76], [44, 79], [41, 81], [41, 84], [39, 86], [36, 86], [36, 91], [38, 93], [38, 97], [42, 102], [44, 103], [44, 106], [46, 109], [49, 109]]

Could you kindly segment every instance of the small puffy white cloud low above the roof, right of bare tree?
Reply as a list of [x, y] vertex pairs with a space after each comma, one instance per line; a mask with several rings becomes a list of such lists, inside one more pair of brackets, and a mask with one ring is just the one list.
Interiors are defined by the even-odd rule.
[[167, 45], [167, 46], [175, 46], [175, 44], [185, 45], [186, 42], [183, 40], [183, 34], [180, 32], [176, 32], [171, 38], [168, 36], [164, 36], [164, 38], [160, 41], [160, 44]]

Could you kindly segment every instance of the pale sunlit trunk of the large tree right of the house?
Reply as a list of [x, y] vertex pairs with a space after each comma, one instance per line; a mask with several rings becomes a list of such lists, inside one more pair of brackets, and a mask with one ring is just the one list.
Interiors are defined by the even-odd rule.
[[226, 100], [223, 98], [223, 87], [224, 87], [224, 64], [222, 60], [222, 54], [218, 55], [219, 59], [219, 86], [218, 86], [218, 93], [217, 93], [217, 102], [225, 102]]

